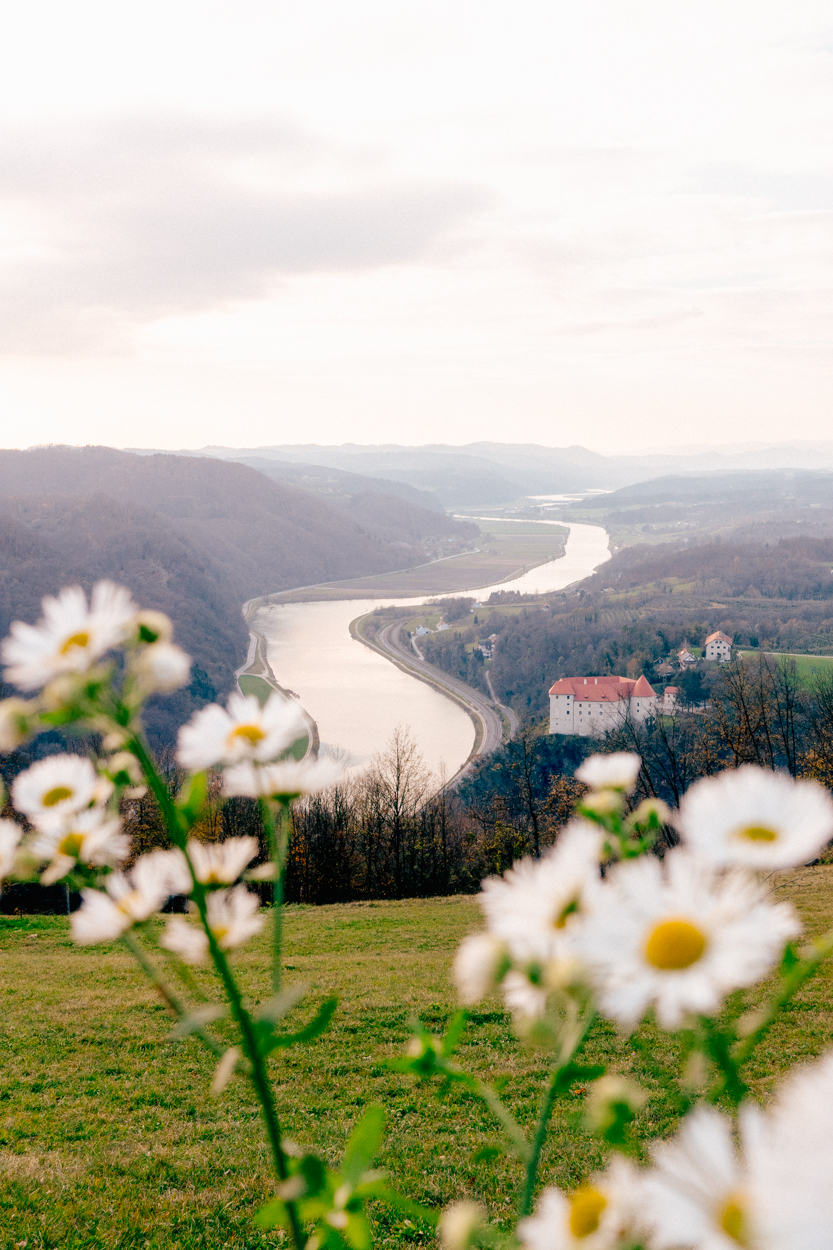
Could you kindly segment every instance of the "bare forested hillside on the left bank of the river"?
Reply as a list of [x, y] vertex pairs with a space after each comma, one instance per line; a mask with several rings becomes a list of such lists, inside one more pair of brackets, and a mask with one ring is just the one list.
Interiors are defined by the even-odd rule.
[[231, 688], [246, 599], [418, 564], [424, 550], [245, 465], [109, 448], [0, 451], [0, 632], [35, 620], [43, 595], [100, 578], [168, 612], [196, 668], [189, 691], [150, 710], [158, 741]]

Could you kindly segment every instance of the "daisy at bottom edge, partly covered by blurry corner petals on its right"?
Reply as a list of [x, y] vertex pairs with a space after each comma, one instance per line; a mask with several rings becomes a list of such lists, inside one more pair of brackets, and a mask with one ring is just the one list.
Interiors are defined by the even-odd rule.
[[[747, 1111], [740, 1116], [743, 1138], [755, 1115]], [[655, 1166], [642, 1191], [654, 1250], [738, 1250], [757, 1244], [753, 1230], [759, 1216], [728, 1116], [698, 1106], [677, 1136], [655, 1145], [652, 1154]]]

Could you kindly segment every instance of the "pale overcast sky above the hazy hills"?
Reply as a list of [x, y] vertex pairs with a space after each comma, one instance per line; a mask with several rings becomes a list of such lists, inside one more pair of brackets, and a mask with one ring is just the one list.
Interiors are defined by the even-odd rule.
[[833, 9], [4, 0], [0, 442], [833, 436]]

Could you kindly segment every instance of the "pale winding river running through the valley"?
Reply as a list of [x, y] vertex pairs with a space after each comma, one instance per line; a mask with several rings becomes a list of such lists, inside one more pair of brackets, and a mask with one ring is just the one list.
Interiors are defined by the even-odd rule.
[[[609, 558], [605, 530], [599, 525], [570, 525], [560, 559], [538, 565], [513, 581], [465, 594], [487, 598], [493, 590], [562, 590], [588, 578]], [[468, 714], [350, 636], [350, 621], [356, 616], [383, 605], [420, 604], [425, 598], [269, 604], [253, 621], [266, 641], [278, 681], [299, 695], [318, 722], [321, 749], [346, 751], [351, 766], [366, 764], [389, 741], [396, 725], [409, 726], [437, 776], [443, 771], [452, 776], [468, 759], [474, 742]]]

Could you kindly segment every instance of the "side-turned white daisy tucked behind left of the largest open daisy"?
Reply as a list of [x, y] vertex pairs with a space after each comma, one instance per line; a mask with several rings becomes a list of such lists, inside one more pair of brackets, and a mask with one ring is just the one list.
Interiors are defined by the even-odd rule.
[[503, 876], [483, 882], [480, 906], [493, 936], [519, 961], [563, 955], [599, 880], [602, 835], [588, 821], [573, 820], [552, 851], [524, 859]]

